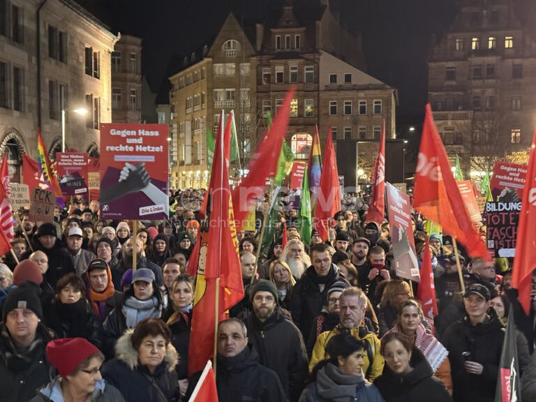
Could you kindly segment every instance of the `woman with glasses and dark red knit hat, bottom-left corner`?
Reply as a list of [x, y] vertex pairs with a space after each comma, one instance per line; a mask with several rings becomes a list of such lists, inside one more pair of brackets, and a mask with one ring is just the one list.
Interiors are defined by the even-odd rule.
[[50, 341], [47, 358], [58, 375], [31, 402], [124, 402], [119, 390], [101, 376], [104, 355], [84, 338]]

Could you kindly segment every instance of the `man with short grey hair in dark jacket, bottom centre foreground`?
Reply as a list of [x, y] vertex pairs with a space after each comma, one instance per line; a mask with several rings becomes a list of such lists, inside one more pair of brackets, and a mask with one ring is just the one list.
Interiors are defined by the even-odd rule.
[[[219, 402], [286, 402], [278, 375], [258, 362], [258, 355], [248, 344], [244, 322], [228, 318], [218, 325], [216, 389]], [[194, 373], [183, 401], [189, 401], [201, 373]]]

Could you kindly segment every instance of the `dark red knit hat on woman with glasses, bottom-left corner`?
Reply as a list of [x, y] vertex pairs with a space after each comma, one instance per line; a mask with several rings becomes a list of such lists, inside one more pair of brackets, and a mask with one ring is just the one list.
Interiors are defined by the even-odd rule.
[[47, 344], [47, 358], [59, 375], [73, 374], [88, 357], [101, 352], [84, 338], [61, 338]]

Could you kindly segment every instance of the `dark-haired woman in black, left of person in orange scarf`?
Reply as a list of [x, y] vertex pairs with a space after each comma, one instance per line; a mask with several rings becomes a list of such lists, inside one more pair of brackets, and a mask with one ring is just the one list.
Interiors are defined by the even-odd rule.
[[45, 306], [43, 321], [59, 338], [84, 338], [99, 349], [103, 347], [103, 327], [91, 310], [86, 284], [77, 274], [59, 278], [56, 295]]

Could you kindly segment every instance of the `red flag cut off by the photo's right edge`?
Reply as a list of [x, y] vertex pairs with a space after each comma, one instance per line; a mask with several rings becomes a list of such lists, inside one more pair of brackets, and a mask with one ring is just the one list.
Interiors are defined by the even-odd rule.
[[523, 189], [519, 226], [517, 228], [516, 255], [512, 269], [512, 288], [519, 291], [519, 301], [523, 310], [530, 312], [530, 281], [536, 269], [536, 131]]

